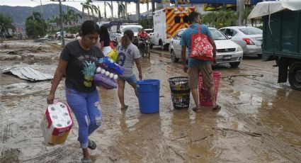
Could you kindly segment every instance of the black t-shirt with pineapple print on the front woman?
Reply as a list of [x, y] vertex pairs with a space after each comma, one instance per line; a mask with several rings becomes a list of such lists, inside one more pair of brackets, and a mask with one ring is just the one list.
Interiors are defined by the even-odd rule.
[[94, 91], [96, 86], [93, 77], [100, 57], [104, 57], [103, 52], [96, 46], [84, 50], [79, 45], [79, 40], [68, 43], [60, 56], [60, 59], [68, 61], [66, 86], [81, 92]]

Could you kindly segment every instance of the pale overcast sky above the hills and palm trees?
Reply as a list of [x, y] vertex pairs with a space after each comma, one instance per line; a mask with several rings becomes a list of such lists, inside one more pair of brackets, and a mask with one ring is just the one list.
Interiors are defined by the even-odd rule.
[[[54, 2], [50, 0], [0, 0], [0, 5], [7, 5], [7, 6], [38, 6], [40, 5], [40, 1], [42, 4], [58, 4], [59, 2]], [[81, 3], [85, 2], [85, 0], [66, 0], [62, 2], [64, 5], [73, 6], [79, 11], [81, 11]], [[99, 6], [101, 9], [101, 14], [103, 14], [103, 1], [93, 1], [93, 4]], [[117, 15], [117, 6], [116, 2], [113, 2], [114, 6], [114, 15]], [[152, 5], [149, 4], [149, 9], [152, 8]], [[45, 9], [44, 9], [45, 10]], [[110, 9], [107, 6], [107, 15], [110, 16]], [[140, 13], [147, 11], [147, 4], [140, 4]], [[136, 4], [131, 3], [127, 5], [127, 12], [128, 13], [136, 13]]]

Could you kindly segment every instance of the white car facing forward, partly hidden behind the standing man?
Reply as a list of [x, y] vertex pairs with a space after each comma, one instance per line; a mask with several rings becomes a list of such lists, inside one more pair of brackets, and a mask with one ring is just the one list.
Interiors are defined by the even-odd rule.
[[[182, 46], [180, 45], [180, 40], [185, 29], [186, 28], [178, 30], [175, 37], [171, 38], [169, 52], [171, 52], [172, 62], [178, 62], [181, 58]], [[227, 38], [220, 30], [217, 30], [216, 28], [209, 28], [209, 30], [212, 33], [212, 38], [215, 40], [215, 45], [217, 47], [217, 64], [229, 63], [231, 67], [238, 67], [240, 62], [242, 62], [242, 47], [232, 40], [229, 40], [229, 38]], [[188, 58], [188, 50], [186, 51], [186, 58]]]

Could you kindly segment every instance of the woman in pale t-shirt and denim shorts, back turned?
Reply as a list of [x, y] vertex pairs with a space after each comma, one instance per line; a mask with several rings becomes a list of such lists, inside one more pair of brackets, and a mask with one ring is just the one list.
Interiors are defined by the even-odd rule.
[[118, 98], [120, 101], [121, 109], [126, 109], [128, 106], [125, 105], [125, 81], [132, 86], [135, 90], [135, 94], [137, 96], [136, 89], [136, 76], [132, 71], [134, 67], [134, 62], [139, 71], [139, 79], [142, 79], [142, 70], [140, 64], [140, 52], [136, 45], [132, 44], [132, 39], [134, 37], [134, 33], [132, 30], [125, 30], [123, 37], [121, 38], [121, 43], [118, 45], [118, 58], [117, 63], [125, 68], [125, 72], [118, 77]]

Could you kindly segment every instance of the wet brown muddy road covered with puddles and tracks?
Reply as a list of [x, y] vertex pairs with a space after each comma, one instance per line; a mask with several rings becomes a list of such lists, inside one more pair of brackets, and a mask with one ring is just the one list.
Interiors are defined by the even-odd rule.
[[[0, 45], [1, 69], [26, 66], [54, 74], [59, 52], [44, 43], [7, 41]], [[144, 79], [161, 81], [159, 113], [141, 114], [129, 85], [126, 111], [120, 111], [117, 89], [98, 88], [103, 125], [91, 135], [98, 145], [90, 151], [92, 161], [301, 162], [301, 91], [277, 84], [273, 64], [244, 57], [239, 68], [215, 67], [222, 72], [217, 95], [222, 109], [194, 113], [192, 96], [190, 108], [172, 106], [168, 79], [186, 76], [181, 63], [154, 49], [149, 59], [142, 58], [142, 72]], [[50, 81], [0, 77], [0, 162], [80, 162], [75, 118], [64, 145], [43, 143], [40, 120]], [[63, 81], [56, 98], [65, 101]]]

